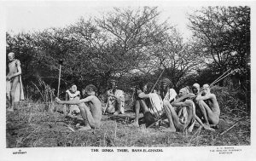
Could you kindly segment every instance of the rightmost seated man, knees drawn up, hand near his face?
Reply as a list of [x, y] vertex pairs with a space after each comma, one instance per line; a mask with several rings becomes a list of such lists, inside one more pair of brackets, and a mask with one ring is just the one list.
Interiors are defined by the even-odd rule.
[[198, 116], [199, 118], [203, 118], [206, 126], [210, 126], [210, 124], [218, 124], [219, 121], [219, 106], [216, 96], [211, 94], [210, 86], [208, 84], [203, 85], [202, 94], [197, 95], [195, 100], [199, 101], [199, 107], [202, 115]]

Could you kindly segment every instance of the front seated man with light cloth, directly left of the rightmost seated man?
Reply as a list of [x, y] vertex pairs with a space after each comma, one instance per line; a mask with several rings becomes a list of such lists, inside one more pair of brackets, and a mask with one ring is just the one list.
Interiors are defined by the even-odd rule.
[[169, 129], [171, 132], [185, 131], [191, 132], [195, 124], [195, 105], [193, 101], [187, 100], [192, 94], [189, 94], [187, 88], [179, 90], [179, 98], [172, 102], [164, 101], [164, 109], [169, 121]]

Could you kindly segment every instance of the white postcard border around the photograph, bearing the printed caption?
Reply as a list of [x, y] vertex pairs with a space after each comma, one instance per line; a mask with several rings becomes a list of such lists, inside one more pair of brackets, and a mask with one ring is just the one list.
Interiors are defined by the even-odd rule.
[[[40, 3], [40, 2], [35, 2]], [[52, 3], [49, 1], [44, 1], [43, 3]], [[58, 1], [58, 3], [60, 3]], [[80, 1], [82, 3], [82, 1]], [[88, 2], [89, 3], [89, 2]], [[91, 3], [91, 2], [90, 2]], [[210, 152], [212, 149], [216, 149], [217, 147], [161, 147], [164, 152], [90, 152], [91, 147], [40, 147], [40, 148], [5, 148], [6, 136], [5, 136], [5, 88], [0, 90], [1, 96], [1, 108], [0, 108], [0, 160], [255, 160], [255, 109], [253, 105], [255, 104], [255, 94], [256, 88], [254, 85], [255, 69], [254, 61], [255, 61], [255, 1], [218, 1], [218, 2], [209, 2], [209, 1], [151, 1], [148, 3], [147, 1], [96, 1], [93, 5], [115, 5], [115, 6], [123, 6], [125, 3], [129, 3], [129, 5], [166, 5], [167, 3], [172, 3], [172, 6], [180, 6], [180, 5], [190, 5], [190, 6], [207, 6], [207, 5], [249, 5], [251, 7], [251, 55], [252, 55], [252, 117], [251, 117], [251, 146], [245, 147], [236, 147], [241, 148], [241, 152], [234, 152], [230, 155], [221, 155], [217, 152]], [[26, 5], [26, 2], [20, 1], [16, 2], [0, 2], [0, 67], [1, 67], [1, 84], [5, 84], [5, 22], [6, 22], [6, 6], [9, 5]], [[253, 55], [254, 54], [254, 55]], [[3, 81], [3, 82], [2, 82]], [[5, 85], [4, 85], [5, 87]], [[127, 147], [130, 149], [133, 147]], [[140, 147], [144, 148], [144, 147]], [[26, 152], [26, 154], [22, 155], [14, 155], [13, 152], [21, 151]], [[98, 149], [102, 149], [99, 147]], [[116, 150], [117, 148], [113, 148]]]

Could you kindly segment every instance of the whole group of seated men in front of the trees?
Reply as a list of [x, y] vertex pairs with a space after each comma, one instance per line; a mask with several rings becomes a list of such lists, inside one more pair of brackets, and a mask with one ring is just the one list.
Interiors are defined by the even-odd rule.
[[[125, 97], [122, 90], [116, 89], [116, 82], [111, 82], [108, 89], [108, 101], [103, 112], [117, 115], [124, 113]], [[79, 99], [79, 92], [76, 86], [67, 91], [69, 100], [61, 101], [56, 98], [59, 104], [79, 106], [71, 108], [69, 115], [74, 109], [80, 111], [84, 119], [84, 127], [79, 130], [99, 128], [102, 118], [102, 101], [96, 97], [96, 87], [92, 84], [84, 89], [86, 97]], [[200, 85], [195, 83], [192, 92], [184, 87], [176, 91], [172, 89], [172, 82], [168, 78], [160, 81], [160, 89], [154, 87], [153, 83], [141, 82], [134, 89], [135, 96], [135, 119], [130, 126], [139, 127], [139, 113], [143, 112], [146, 126], [154, 124], [157, 119], [167, 120], [167, 131], [191, 131], [197, 121], [204, 129], [214, 130], [210, 124], [216, 125], [219, 120], [219, 106], [216, 96], [210, 92], [210, 86], [204, 84], [200, 91]], [[75, 97], [75, 98], [73, 98]], [[72, 99], [70, 99], [72, 98]]]

